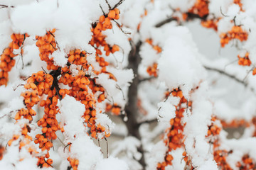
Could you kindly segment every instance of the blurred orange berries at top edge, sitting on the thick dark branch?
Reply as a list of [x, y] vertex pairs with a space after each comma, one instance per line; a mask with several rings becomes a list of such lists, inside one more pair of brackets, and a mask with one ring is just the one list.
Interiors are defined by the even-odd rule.
[[208, 3], [208, 0], [197, 0], [188, 13], [193, 13], [203, 18], [209, 14]]

